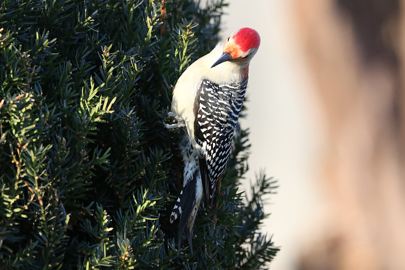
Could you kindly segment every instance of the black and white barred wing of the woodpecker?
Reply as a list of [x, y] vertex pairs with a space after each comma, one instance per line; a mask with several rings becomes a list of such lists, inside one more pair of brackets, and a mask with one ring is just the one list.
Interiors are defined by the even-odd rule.
[[240, 84], [218, 85], [205, 79], [195, 97], [194, 137], [203, 152], [199, 167], [208, 207], [213, 202], [217, 181], [229, 159], [247, 84], [248, 80]]

